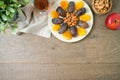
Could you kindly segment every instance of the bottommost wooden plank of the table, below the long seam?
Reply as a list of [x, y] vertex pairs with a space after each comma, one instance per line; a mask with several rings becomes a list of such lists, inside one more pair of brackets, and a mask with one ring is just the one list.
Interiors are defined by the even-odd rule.
[[0, 80], [119, 79], [119, 64], [0, 64]]

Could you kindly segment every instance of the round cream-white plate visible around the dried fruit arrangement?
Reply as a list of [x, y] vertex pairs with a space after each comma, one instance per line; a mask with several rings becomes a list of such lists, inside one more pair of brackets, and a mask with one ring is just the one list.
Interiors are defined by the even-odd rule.
[[[68, 1], [68, 2], [70, 2], [70, 1], [76, 2], [76, 1], [80, 1], [80, 0], [67, 0], [67, 1]], [[92, 29], [92, 26], [93, 26], [93, 14], [92, 14], [92, 11], [91, 11], [90, 7], [87, 5], [87, 3], [86, 3], [85, 1], [83, 1], [83, 3], [84, 3], [84, 7], [86, 8], [86, 13], [89, 14], [90, 17], [91, 17], [91, 19], [90, 19], [89, 21], [87, 21], [87, 23], [88, 23], [88, 25], [89, 25], [89, 28], [85, 29], [85, 30], [86, 30], [86, 34], [85, 34], [84, 36], [73, 37], [73, 38], [70, 39], [70, 40], [64, 39], [61, 34], [59, 34], [58, 32], [52, 31], [51, 27], [52, 27], [53, 23], [52, 23], [52, 18], [50, 17], [50, 14], [49, 14], [49, 16], [48, 16], [48, 26], [50, 27], [50, 30], [51, 30], [52, 34], [53, 34], [57, 39], [59, 39], [59, 40], [61, 40], [61, 41], [64, 41], [64, 42], [77, 42], [77, 41], [80, 41], [80, 40], [82, 40], [83, 38], [85, 38], [85, 37], [90, 33], [90, 31], [91, 31], [91, 29]], [[56, 3], [55, 3], [54, 5], [52, 5], [51, 11], [52, 11], [52, 10], [56, 10], [59, 5], [60, 5], [60, 0], [59, 0], [59, 1], [56, 1]], [[50, 11], [50, 12], [51, 12], [51, 11]]]

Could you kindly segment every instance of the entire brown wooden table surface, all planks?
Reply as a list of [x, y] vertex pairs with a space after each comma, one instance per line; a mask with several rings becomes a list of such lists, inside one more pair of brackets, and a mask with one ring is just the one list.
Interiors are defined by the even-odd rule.
[[[120, 13], [120, 0], [112, 1]], [[107, 15], [94, 14], [91, 33], [77, 43], [0, 34], [0, 80], [120, 80], [120, 30], [106, 29]]]

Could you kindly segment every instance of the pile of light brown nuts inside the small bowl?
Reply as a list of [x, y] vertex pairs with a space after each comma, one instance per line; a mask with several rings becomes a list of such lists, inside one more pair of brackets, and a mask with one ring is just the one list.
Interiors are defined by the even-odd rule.
[[98, 13], [106, 13], [111, 7], [111, 0], [93, 0], [93, 6]]

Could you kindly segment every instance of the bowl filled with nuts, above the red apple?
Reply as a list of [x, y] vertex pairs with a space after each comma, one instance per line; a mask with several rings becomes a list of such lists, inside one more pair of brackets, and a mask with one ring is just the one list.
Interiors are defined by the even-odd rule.
[[112, 0], [92, 0], [92, 9], [96, 14], [106, 14], [112, 8]]

